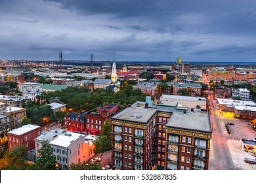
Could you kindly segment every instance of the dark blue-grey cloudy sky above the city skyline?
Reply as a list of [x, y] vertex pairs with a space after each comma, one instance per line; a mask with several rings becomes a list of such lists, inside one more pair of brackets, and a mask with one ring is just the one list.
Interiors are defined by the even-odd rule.
[[256, 62], [255, 0], [1, 0], [0, 59]]

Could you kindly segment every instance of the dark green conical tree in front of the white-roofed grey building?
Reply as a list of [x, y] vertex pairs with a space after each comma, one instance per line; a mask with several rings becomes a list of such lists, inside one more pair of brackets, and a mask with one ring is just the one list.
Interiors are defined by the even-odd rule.
[[36, 162], [43, 170], [55, 170], [56, 160], [53, 157], [53, 150], [49, 141], [44, 141], [42, 147], [38, 150], [39, 160]]

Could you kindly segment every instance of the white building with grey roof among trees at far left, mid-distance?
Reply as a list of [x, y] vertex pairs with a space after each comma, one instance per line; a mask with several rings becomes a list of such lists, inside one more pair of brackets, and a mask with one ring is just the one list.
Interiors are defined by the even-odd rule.
[[22, 92], [24, 97], [32, 97], [32, 99], [35, 99], [35, 96], [40, 95], [42, 92], [41, 86], [43, 86], [43, 84], [37, 82], [24, 82], [19, 84], [18, 90]]

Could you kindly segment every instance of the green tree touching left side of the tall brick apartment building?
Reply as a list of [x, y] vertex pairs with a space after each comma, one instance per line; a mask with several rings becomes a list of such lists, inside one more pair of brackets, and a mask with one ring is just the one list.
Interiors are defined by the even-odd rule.
[[111, 150], [111, 122], [109, 119], [106, 119], [105, 124], [102, 125], [101, 134], [96, 137], [93, 143], [95, 144], [95, 148], [93, 149], [95, 154]]

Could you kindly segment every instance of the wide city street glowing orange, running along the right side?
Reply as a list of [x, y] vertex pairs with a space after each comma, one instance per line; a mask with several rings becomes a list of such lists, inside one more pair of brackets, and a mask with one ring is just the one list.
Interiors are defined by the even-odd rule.
[[[252, 139], [256, 137], [255, 131], [247, 125], [245, 120], [236, 119], [232, 116], [225, 116], [217, 107], [217, 101], [213, 94], [209, 95], [211, 105], [210, 118], [213, 125], [211, 139], [211, 150], [209, 158], [209, 169], [216, 170], [240, 170], [256, 169], [255, 165], [244, 163], [244, 158], [253, 158], [241, 149], [240, 139]], [[230, 135], [226, 131], [225, 122], [232, 122], [228, 125]], [[236, 138], [236, 141], [233, 139]]]

